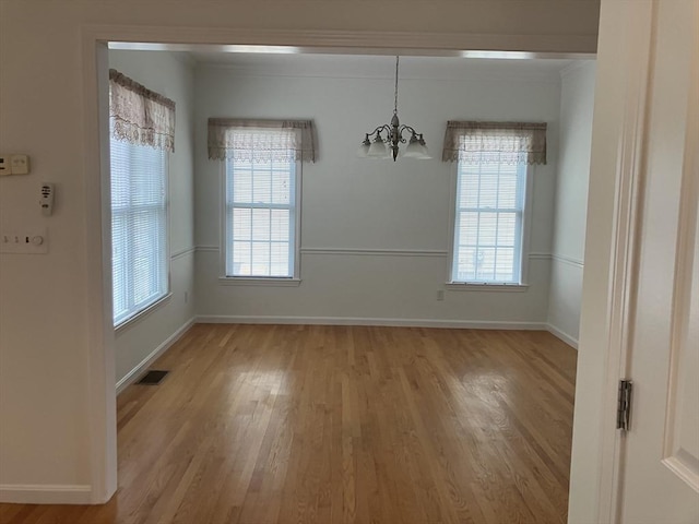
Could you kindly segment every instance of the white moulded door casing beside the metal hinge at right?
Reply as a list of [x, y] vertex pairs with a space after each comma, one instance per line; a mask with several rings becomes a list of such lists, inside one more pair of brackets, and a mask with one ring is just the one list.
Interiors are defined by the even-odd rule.
[[[613, 246], [611, 252], [609, 321], [603, 409], [597, 522], [614, 524], [620, 519], [624, 436], [616, 428], [617, 394], [620, 379], [630, 378], [629, 354], [636, 288], [640, 262], [639, 233], [645, 181], [645, 144], [649, 96], [653, 67], [656, 0], [618, 2], [625, 12], [620, 32], [625, 49], [624, 109], [617, 146]], [[597, 94], [595, 94], [597, 95]], [[604, 95], [602, 95], [604, 96]], [[594, 132], [594, 131], [593, 131]]]

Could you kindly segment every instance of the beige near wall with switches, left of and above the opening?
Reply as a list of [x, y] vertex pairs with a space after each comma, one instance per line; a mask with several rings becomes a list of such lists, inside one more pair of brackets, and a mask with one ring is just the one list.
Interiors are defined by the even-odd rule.
[[[105, 460], [114, 427], [103, 425], [114, 420], [114, 355], [95, 321], [109, 298], [99, 285], [95, 241], [102, 221], [96, 104], [94, 81], [84, 73], [93, 71], [97, 40], [595, 50], [596, 1], [366, 8], [371, 16], [356, 2], [0, 1], [0, 148], [33, 162], [28, 177], [0, 180], [0, 225], [46, 225], [51, 246], [42, 257], [0, 255], [3, 500], [74, 501], [75, 492], [81, 501], [99, 501], [114, 486], [114, 464]], [[35, 203], [43, 180], [59, 192], [50, 218]]]

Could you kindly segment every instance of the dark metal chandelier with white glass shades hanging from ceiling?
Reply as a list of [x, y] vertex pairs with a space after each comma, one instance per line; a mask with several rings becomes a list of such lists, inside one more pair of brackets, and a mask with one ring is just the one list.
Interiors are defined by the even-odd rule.
[[[406, 158], [431, 158], [425, 145], [423, 133], [418, 133], [410, 126], [401, 123], [398, 118], [398, 63], [399, 57], [395, 57], [395, 95], [393, 98], [393, 117], [391, 123], [379, 126], [370, 133], [365, 134], [364, 142], [357, 151], [357, 155], [363, 158], [398, 158], [399, 144], [405, 143], [405, 135], [410, 133], [410, 141], [405, 147], [405, 152], [401, 155]], [[386, 139], [383, 134], [386, 133]], [[390, 150], [390, 152], [389, 152]]]

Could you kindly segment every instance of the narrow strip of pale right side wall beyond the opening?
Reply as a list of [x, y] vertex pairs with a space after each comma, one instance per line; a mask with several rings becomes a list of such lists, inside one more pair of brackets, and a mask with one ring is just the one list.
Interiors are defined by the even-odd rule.
[[594, 79], [594, 61], [576, 62], [561, 73], [548, 324], [576, 347], [582, 300]]

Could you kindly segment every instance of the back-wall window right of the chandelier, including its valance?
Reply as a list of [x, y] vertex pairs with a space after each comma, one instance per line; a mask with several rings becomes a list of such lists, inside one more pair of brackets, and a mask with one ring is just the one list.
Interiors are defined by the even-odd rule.
[[442, 159], [457, 162], [450, 282], [523, 284], [528, 177], [546, 163], [546, 124], [450, 121]]

